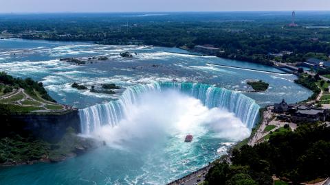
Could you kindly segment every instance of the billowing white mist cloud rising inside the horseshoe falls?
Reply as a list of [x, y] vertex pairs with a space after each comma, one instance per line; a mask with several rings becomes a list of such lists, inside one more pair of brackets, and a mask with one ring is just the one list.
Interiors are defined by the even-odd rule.
[[250, 134], [248, 127], [233, 113], [221, 108], [209, 109], [199, 99], [175, 90], [145, 93], [139, 102], [131, 105], [128, 116], [117, 125], [105, 125], [91, 135], [122, 149], [135, 145], [138, 140], [146, 145], [150, 144], [146, 140], [153, 143], [166, 136], [182, 140], [188, 133], [194, 136], [193, 142], [198, 142], [199, 137], [209, 131], [215, 132], [215, 137], [230, 140], [240, 140]]

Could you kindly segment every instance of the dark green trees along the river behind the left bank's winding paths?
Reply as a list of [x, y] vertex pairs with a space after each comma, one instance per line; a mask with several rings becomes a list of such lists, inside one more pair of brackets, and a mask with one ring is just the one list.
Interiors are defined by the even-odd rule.
[[30, 77], [26, 79], [15, 78], [11, 75], [8, 75], [5, 72], [0, 72], [0, 82], [3, 84], [10, 85], [12, 87], [19, 87], [26, 90], [29, 95], [36, 96], [36, 91], [41, 95], [41, 97], [47, 101], [56, 102], [50, 95], [48, 95], [47, 90], [43, 87], [43, 83], [36, 82], [32, 80]]

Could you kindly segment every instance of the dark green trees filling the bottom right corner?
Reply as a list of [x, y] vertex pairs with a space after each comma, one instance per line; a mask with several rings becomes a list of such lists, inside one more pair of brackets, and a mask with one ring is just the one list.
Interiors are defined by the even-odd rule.
[[299, 184], [330, 175], [330, 128], [300, 125], [272, 134], [268, 142], [234, 149], [228, 162], [215, 162], [204, 184], [273, 184], [272, 175]]

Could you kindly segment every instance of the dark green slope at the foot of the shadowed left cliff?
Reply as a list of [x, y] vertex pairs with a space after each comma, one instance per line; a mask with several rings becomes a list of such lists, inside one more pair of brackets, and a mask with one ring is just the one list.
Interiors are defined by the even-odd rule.
[[58, 143], [47, 143], [30, 134], [13, 132], [0, 138], [0, 164], [24, 164], [41, 159], [60, 161], [67, 156], [91, 149], [95, 145], [94, 140], [76, 136], [71, 127]]

